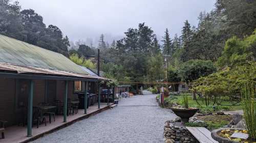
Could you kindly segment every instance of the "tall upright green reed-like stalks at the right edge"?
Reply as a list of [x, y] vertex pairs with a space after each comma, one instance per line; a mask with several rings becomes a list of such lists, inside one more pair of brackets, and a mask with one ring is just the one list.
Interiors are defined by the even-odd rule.
[[242, 91], [242, 107], [244, 111], [244, 119], [249, 137], [256, 139], [256, 97], [255, 84], [247, 82], [243, 85]]

